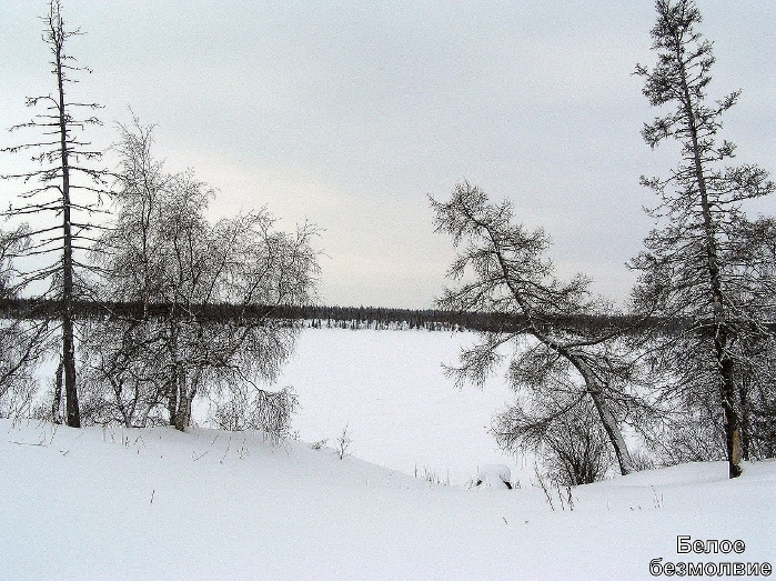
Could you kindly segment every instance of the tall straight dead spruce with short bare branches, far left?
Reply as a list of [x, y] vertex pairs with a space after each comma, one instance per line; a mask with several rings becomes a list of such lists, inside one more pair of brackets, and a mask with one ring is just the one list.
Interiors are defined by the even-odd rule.
[[[64, 381], [67, 424], [80, 427], [73, 301], [84, 293], [83, 277], [89, 267], [77, 252], [90, 243], [90, 231], [95, 228], [91, 216], [98, 211], [100, 197], [105, 191], [105, 172], [89, 167], [101, 153], [81, 137], [87, 126], [100, 123], [91, 114], [99, 106], [71, 100], [68, 94], [71, 83], [78, 82], [77, 73], [88, 70], [79, 67], [67, 50], [68, 41], [80, 32], [65, 28], [59, 0], [49, 2], [49, 14], [43, 20], [43, 41], [51, 52], [56, 87], [49, 94], [28, 98], [28, 107], [42, 108], [42, 112], [31, 121], [11, 128], [12, 131], [33, 130], [40, 137], [2, 149], [11, 153], [31, 152], [32, 161], [40, 168], [3, 176], [4, 179], [20, 180], [28, 188], [20, 196], [21, 203], [11, 207], [6, 216], [29, 216], [34, 220], [36, 227], [29, 232], [33, 242], [27, 248], [26, 256], [32, 258], [30, 262], [34, 264], [40, 264], [41, 257], [51, 260], [48, 264], [30, 268], [21, 277], [21, 284], [30, 288], [43, 284], [42, 297], [53, 298], [59, 304], [56, 313], [61, 330], [58, 377], [61, 373]], [[58, 223], [46, 222], [48, 217]], [[54, 408], [58, 410], [59, 402]]]

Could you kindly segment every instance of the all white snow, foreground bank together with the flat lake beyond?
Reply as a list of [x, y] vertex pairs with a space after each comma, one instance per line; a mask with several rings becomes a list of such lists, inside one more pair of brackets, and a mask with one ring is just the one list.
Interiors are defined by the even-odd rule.
[[[776, 563], [776, 462], [735, 481], [719, 462], [673, 467], [550, 501], [486, 431], [511, 397], [503, 380], [457, 391], [442, 373], [471, 340], [304, 331], [279, 382], [299, 394], [300, 440], [279, 447], [0, 420], [0, 579], [652, 579], [654, 559]], [[520, 488], [412, 475], [463, 484], [488, 463]], [[681, 535], [745, 551], [678, 553]]]

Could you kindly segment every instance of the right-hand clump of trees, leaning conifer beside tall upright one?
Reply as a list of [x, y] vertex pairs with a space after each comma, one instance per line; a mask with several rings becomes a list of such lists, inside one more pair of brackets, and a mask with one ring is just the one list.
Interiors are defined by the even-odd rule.
[[[449, 277], [467, 280], [439, 304], [522, 322], [482, 333], [450, 373], [482, 384], [511, 357], [518, 399], [496, 418], [495, 435], [506, 449], [540, 453], [566, 485], [602, 478], [608, 454], [623, 474], [643, 463], [628, 453], [623, 424], [658, 461], [726, 458], [730, 478], [742, 458], [775, 451], [776, 220], [753, 219], [744, 206], [776, 186], [757, 166], [728, 164], [735, 146], [719, 132], [739, 92], [706, 102], [715, 59], [695, 2], [655, 7], [657, 63], [636, 73], [662, 114], [642, 133], [652, 148], [677, 141], [681, 160], [667, 178], [642, 178], [658, 196], [648, 210], [658, 226], [629, 264], [638, 281], [627, 317], [591, 297], [584, 277], [560, 281], [544, 257], [546, 234], [513, 223], [508, 202], [492, 204], [468, 183], [431, 202], [436, 230], [458, 249]], [[564, 324], [589, 315], [633, 324]]]

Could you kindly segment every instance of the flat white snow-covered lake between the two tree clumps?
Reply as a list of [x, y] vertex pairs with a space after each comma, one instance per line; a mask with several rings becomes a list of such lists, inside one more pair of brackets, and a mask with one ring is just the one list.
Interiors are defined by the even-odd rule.
[[503, 377], [485, 389], [458, 390], [442, 363], [457, 363], [473, 333], [306, 329], [276, 387], [300, 400], [293, 430], [303, 441], [333, 445], [347, 427], [351, 452], [414, 474], [425, 470], [463, 484], [477, 467], [507, 464], [514, 478], [533, 463], [504, 454], [488, 433], [493, 414], [512, 399]]

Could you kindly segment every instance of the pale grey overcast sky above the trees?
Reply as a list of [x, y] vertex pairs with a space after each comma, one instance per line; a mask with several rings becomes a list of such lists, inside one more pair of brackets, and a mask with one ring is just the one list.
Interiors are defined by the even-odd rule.
[[[46, 4], [0, 2], [3, 129], [53, 90]], [[711, 97], [744, 91], [724, 137], [776, 171], [776, 2], [698, 6]], [[463, 179], [544, 227], [563, 276], [623, 300], [654, 201], [638, 177], [676, 161], [639, 136], [656, 113], [632, 76], [655, 61], [651, 0], [63, 0], [63, 16], [93, 70], [73, 96], [105, 106], [94, 140], [114, 141], [131, 107], [170, 171], [219, 189], [213, 217], [266, 207], [281, 228], [318, 224], [329, 304], [431, 307], [452, 248], [426, 194]], [[0, 182], [0, 203], [16, 191]]]

